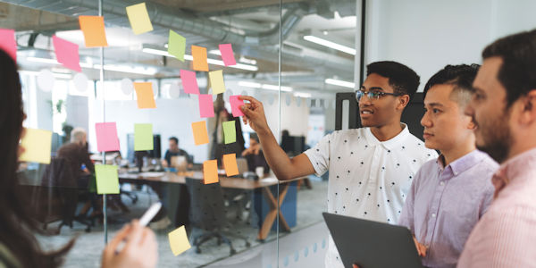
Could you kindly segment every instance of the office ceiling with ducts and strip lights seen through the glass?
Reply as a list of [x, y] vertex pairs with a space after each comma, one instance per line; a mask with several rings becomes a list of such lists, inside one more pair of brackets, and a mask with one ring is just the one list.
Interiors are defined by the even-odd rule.
[[[80, 45], [80, 61], [98, 61], [99, 50], [84, 48], [79, 15], [96, 15], [96, 0], [8, 0], [0, 2], [0, 28], [15, 29], [19, 50], [28, 56], [54, 57], [51, 36], [58, 35]], [[105, 63], [154, 68], [155, 77], [177, 77], [179, 68], [188, 68], [162, 55], [147, 54], [143, 47], [165, 50], [169, 29], [183, 35], [189, 45], [217, 49], [231, 43], [237, 59], [255, 60], [258, 71], [225, 68], [227, 77], [273, 80], [278, 72], [280, 43], [279, 0], [152, 0], [147, 11], [154, 31], [136, 36], [130, 29], [125, 7], [133, 1], [104, 1], [106, 35]], [[312, 91], [351, 90], [323, 84], [326, 78], [353, 80], [353, 55], [304, 40], [305, 35], [323, 36], [333, 42], [354, 46], [356, 2], [351, 0], [283, 1], [281, 70], [283, 83]], [[209, 54], [214, 59], [218, 55]], [[50, 67], [46, 63], [25, 62], [30, 71]], [[59, 66], [56, 66], [59, 67]], [[98, 72], [84, 69], [90, 79]], [[109, 79], [147, 78], [144, 74], [109, 71]], [[227, 79], [227, 78], [226, 78]]]

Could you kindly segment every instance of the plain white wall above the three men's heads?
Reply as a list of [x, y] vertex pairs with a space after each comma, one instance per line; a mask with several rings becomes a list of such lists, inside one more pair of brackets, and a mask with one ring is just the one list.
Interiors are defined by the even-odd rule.
[[419, 91], [446, 64], [482, 63], [482, 49], [495, 39], [536, 28], [536, 1], [530, 0], [381, 0], [367, 4], [364, 62], [405, 63], [421, 76]]

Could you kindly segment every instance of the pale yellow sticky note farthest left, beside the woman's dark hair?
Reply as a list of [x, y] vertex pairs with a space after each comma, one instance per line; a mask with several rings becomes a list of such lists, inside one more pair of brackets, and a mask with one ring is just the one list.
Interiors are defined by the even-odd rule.
[[50, 148], [52, 146], [52, 131], [26, 129], [21, 141], [24, 153], [19, 160], [24, 162], [50, 163]]

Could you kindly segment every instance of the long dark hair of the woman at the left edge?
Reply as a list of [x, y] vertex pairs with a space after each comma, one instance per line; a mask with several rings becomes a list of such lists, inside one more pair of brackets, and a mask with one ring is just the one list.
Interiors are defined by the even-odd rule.
[[34, 233], [44, 233], [29, 217], [17, 180], [22, 110], [21, 80], [13, 59], [0, 49], [0, 243], [9, 248], [23, 267], [57, 267], [71, 249], [71, 240], [58, 251], [46, 253]]

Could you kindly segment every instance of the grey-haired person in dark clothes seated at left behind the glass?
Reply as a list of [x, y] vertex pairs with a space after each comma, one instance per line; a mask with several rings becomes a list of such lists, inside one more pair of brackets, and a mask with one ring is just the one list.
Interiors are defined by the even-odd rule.
[[76, 180], [80, 188], [88, 188], [89, 175], [95, 172], [95, 165], [89, 158], [87, 138], [86, 130], [75, 128], [71, 131], [71, 142], [64, 144], [57, 152], [57, 157], [64, 158], [70, 163], [72, 173], [77, 175]]

